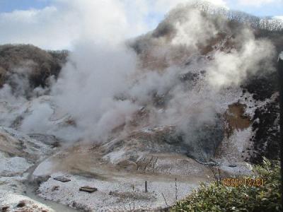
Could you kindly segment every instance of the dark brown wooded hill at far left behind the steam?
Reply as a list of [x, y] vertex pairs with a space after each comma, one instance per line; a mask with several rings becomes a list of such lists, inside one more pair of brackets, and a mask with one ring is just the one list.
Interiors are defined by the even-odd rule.
[[57, 78], [67, 61], [67, 51], [45, 51], [33, 45], [0, 46], [0, 86], [11, 86], [14, 95], [30, 97], [35, 88], [45, 88], [50, 76]]

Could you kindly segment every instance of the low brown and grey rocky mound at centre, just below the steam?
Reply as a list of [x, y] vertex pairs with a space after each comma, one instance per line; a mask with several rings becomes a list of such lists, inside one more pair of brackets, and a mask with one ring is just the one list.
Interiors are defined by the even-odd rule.
[[125, 138], [105, 143], [103, 154], [107, 157], [119, 152], [120, 159], [136, 163], [143, 153], [180, 153], [205, 163], [214, 157], [223, 139], [224, 124], [218, 117], [214, 124], [187, 129], [186, 134], [175, 125], [132, 131]]

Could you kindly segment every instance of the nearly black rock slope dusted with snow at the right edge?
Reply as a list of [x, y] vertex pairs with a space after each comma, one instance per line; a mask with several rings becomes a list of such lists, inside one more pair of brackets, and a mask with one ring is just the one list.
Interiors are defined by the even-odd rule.
[[251, 126], [253, 136], [253, 151], [250, 161], [261, 163], [262, 157], [276, 160], [279, 158], [279, 85], [277, 72], [267, 73], [265, 76], [250, 78], [243, 86], [258, 102], [254, 105], [255, 112]]

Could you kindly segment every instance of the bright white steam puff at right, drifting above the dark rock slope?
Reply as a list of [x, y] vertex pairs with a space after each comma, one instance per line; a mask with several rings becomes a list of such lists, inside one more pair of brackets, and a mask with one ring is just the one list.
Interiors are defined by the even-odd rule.
[[214, 54], [213, 61], [207, 67], [212, 86], [240, 86], [248, 76], [258, 71], [274, 71], [271, 64], [275, 58], [274, 46], [267, 40], [255, 40], [250, 31], [245, 30], [244, 33], [243, 46], [239, 50]]

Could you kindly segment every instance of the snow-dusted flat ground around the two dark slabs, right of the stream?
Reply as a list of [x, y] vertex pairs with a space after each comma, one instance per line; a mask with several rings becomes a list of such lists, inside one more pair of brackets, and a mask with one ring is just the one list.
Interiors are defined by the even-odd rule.
[[[52, 177], [64, 175], [62, 172], [55, 173]], [[61, 204], [81, 208], [90, 211], [129, 211], [129, 204], [133, 202], [135, 208], [158, 208], [165, 207], [162, 194], [168, 204], [175, 202], [175, 179], [162, 179], [162, 177], [147, 179], [148, 193], [144, 192], [144, 181], [139, 177], [112, 177], [110, 181], [65, 174], [71, 179], [70, 182], [62, 183], [50, 178], [40, 185], [40, 196]], [[134, 185], [134, 192], [132, 191]], [[52, 190], [58, 187], [57, 190]], [[88, 194], [80, 192], [79, 187], [96, 187], [98, 192]], [[178, 181], [178, 199], [182, 199], [188, 192], [197, 187], [197, 183]]]

